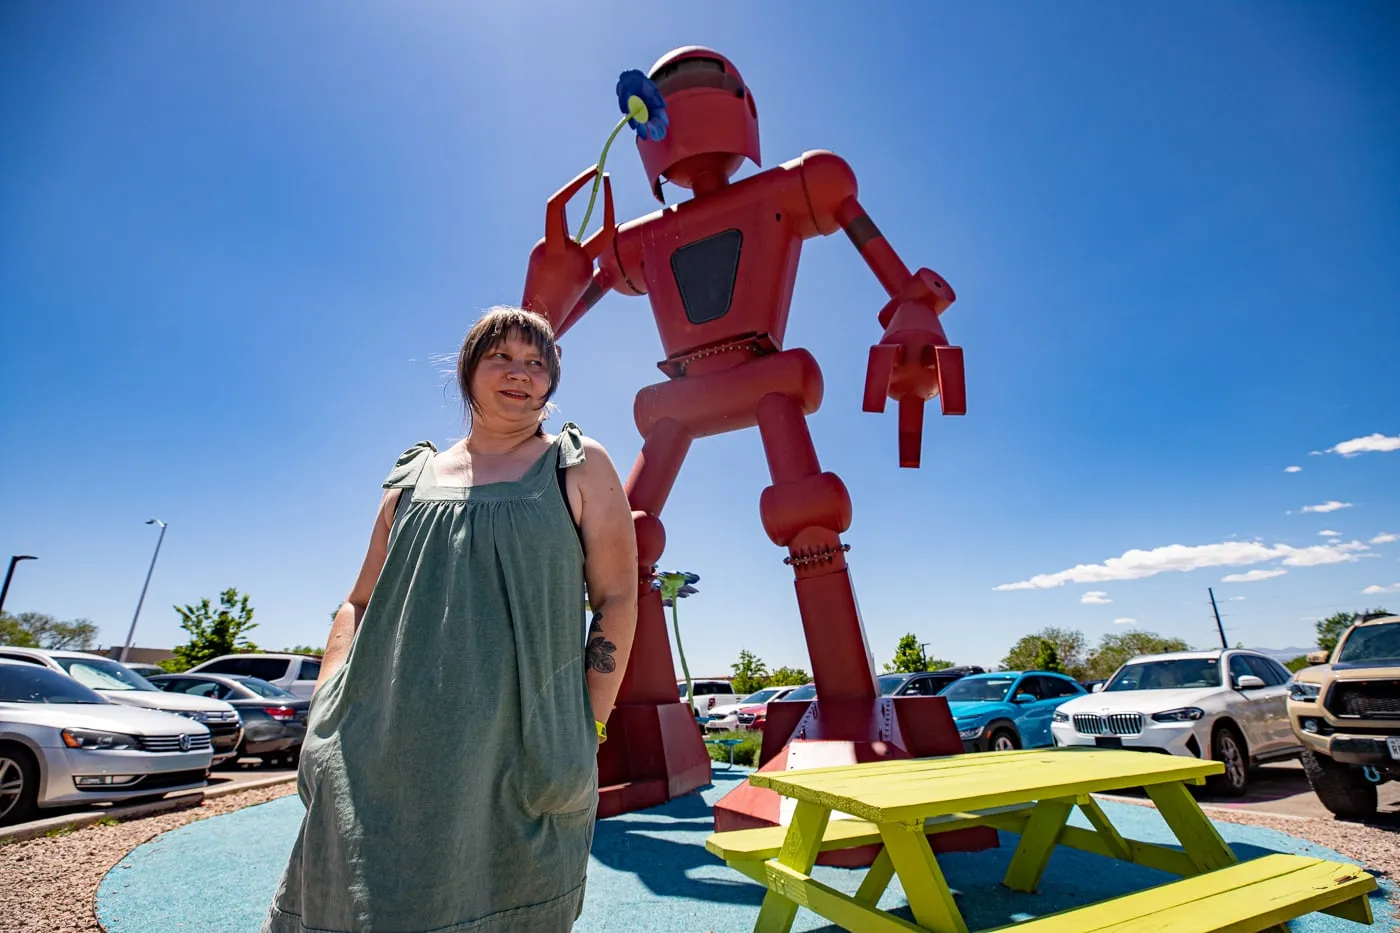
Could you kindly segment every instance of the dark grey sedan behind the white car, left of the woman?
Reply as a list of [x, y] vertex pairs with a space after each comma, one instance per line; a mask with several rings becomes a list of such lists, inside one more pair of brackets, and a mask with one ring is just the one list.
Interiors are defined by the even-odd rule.
[[160, 674], [147, 679], [168, 693], [211, 696], [237, 709], [244, 720], [237, 758], [260, 758], [267, 765], [297, 763], [307, 735], [309, 699], [256, 677]]

